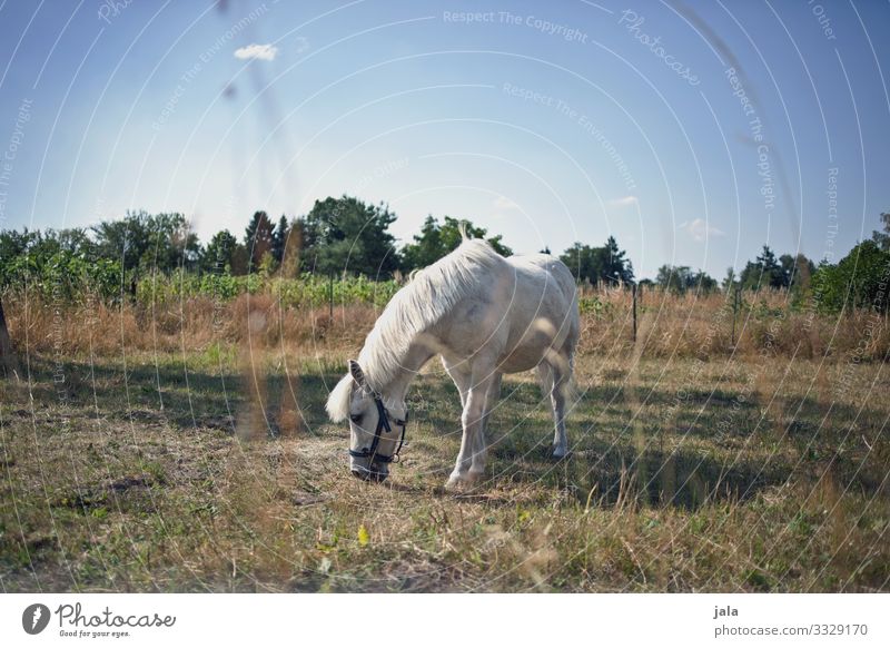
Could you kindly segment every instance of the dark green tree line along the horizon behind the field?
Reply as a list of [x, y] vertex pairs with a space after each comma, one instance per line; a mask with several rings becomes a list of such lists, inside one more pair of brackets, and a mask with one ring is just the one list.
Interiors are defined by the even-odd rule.
[[[316, 200], [308, 214], [297, 218], [281, 215], [274, 220], [266, 212], [255, 212], [240, 237], [222, 229], [206, 245], [177, 213], [128, 212], [121, 219], [103, 220], [88, 229], [2, 230], [0, 288], [26, 281], [56, 281], [65, 286], [70, 284], [67, 277], [82, 277], [100, 293], [113, 293], [152, 274], [172, 272], [283, 278], [310, 273], [384, 279], [431, 265], [461, 243], [462, 220], [452, 216], [439, 220], [431, 215], [412, 240], [398, 247], [389, 232], [395, 220], [387, 205], [344, 195]], [[473, 237], [485, 238], [504, 256], [512, 254], [501, 235], [463, 223]], [[874, 232], [838, 264], [817, 265], [802, 254], [777, 256], [764, 245], [738, 274], [728, 268], [722, 282], [702, 269], [663, 265], [654, 279], [639, 284], [674, 293], [785, 289], [798, 296], [818, 294], [820, 303], [832, 308], [848, 297], [854, 305], [871, 303], [883, 300], [886, 269], [890, 268], [890, 214], [882, 214], [881, 223], [883, 232]], [[601, 246], [577, 242], [558, 257], [580, 283], [621, 287], [636, 282], [633, 264], [613, 236]], [[882, 307], [886, 310], [886, 303]]]

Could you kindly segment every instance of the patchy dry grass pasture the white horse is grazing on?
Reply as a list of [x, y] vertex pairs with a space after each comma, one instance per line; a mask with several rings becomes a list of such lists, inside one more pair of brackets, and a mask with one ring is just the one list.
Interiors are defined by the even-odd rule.
[[[323, 405], [374, 312], [287, 328], [268, 304], [231, 308], [238, 340], [182, 324], [196, 306], [179, 326], [99, 314], [58, 345], [50, 315], [9, 308], [4, 591], [890, 589], [880, 361], [812, 341], [649, 353], [603, 342], [587, 314], [572, 454], [548, 458], [533, 374], [506, 376], [486, 482], [446, 491], [459, 399], [437, 363], [409, 392], [403, 461], [360, 482]], [[675, 324], [644, 318], [641, 340]]]

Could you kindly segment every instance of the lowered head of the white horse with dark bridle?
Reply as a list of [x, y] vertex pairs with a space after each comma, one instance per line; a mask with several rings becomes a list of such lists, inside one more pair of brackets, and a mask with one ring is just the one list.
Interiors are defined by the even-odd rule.
[[327, 412], [334, 422], [349, 420], [349, 470], [364, 480], [384, 481], [398, 460], [405, 440], [407, 412], [388, 403], [367, 384], [354, 360], [349, 373], [330, 392]]

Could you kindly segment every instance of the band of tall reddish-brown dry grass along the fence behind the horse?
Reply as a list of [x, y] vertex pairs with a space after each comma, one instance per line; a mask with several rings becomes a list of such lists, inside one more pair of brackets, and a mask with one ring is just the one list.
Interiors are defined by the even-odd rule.
[[[746, 294], [734, 315], [722, 293], [673, 295], [641, 291], [637, 338], [633, 340], [632, 300], [627, 291], [585, 294], [599, 308], [583, 308], [581, 352], [643, 359], [728, 356], [840, 359], [882, 361], [890, 353], [886, 316], [860, 311], [817, 315], [792, 308], [780, 292]], [[18, 346], [37, 353], [59, 352], [66, 357], [119, 355], [125, 352], [205, 351], [230, 343], [261, 344], [283, 351], [320, 345], [355, 348], [378, 315], [373, 306], [337, 305], [308, 312], [283, 308], [267, 294], [241, 295], [233, 302], [196, 297], [187, 302], [146, 307], [107, 306], [88, 300], [66, 308], [61, 326], [51, 304], [6, 297], [7, 317]], [[261, 333], [250, 334], [250, 323], [261, 321]]]

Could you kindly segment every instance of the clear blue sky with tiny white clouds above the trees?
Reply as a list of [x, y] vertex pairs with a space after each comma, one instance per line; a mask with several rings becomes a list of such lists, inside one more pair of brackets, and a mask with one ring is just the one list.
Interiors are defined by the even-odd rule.
[[837, 261], [890, 209], [887, 24], [878, 1], [0, 0], [0, 227], [178, 210], [206, 240], [348, 193], [403, 240], [427, 214], [516, 252], [613, 235], [637, 276], [720, 278], [763, 243]]

